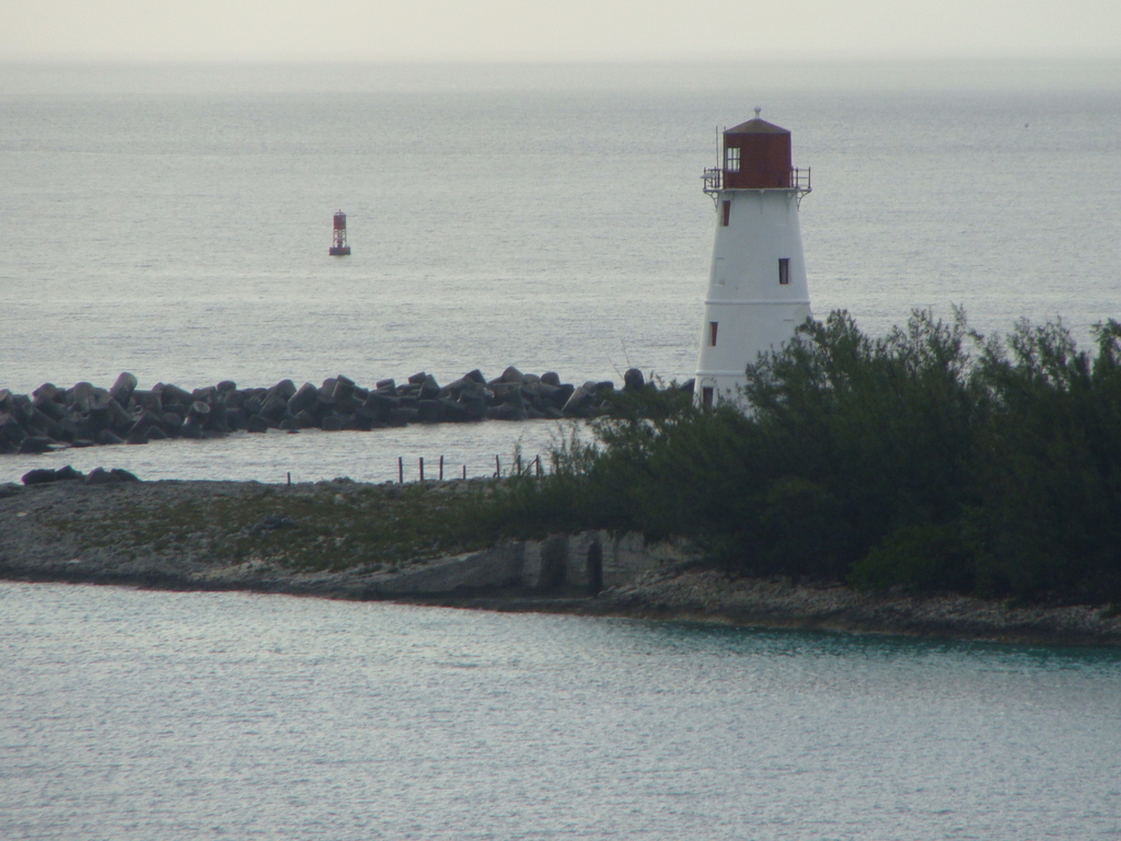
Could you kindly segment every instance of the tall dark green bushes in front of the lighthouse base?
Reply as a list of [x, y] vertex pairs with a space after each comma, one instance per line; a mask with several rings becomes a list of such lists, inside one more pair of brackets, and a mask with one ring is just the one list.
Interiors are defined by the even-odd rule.
[[482, 516], [686, 537], [732, 573], [1118, 602], [1121, 324], [1096, 341], [985, 339], [961, 312], [871, 339], [836, 312], [748, 368], [750, 414], [620, 396]]

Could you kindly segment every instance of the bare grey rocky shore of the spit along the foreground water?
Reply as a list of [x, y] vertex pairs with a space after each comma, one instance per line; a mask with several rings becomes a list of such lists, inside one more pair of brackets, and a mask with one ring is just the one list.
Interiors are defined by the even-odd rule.
[[[363, 561], [360, 547], [348, 543], [354, 517], [400, 517], [401, 509], [392, 506], [410, 493], [424, 495], [423, 505], [433, 506], [478, 490], [471, 481], [424, 488], [124, 478], [6, 484], [0, 486], [0, 579], [1121, 646], [1121, 616], [1100, 607], [1016, 607], [961, 595], [869, 594], [836, 584], [729, 579], [698, 567], [679, 546], [646, 546], [640, 536], [585, 533], [453, 554], [411, 548], [408, 557], [386, 563]], [[300, 544], [297, 535], [311, 543]], [[308, 565], [300, 561], [305, 549], [319, 557], [359, 554], [343, 563]], [[559, 560], [550, 562], [550, 556]], [[595, 585], [584, 572], [590, 569], [585, 558], [593, 556], [602, 577]]]

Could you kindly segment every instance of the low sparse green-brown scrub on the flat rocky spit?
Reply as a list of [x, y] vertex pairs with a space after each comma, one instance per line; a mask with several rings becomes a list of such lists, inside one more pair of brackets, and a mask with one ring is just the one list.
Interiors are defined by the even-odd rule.
[[[250, 489], [252, 488], [252, 489]], [[78, 535], [85, 551], [175, 554], [209, 564], [261, 563], [297, 572], [396, 571], [493, 542], [474, 512], [488, 481], [314, 486], [221, 483], [205, 495], [154, 493], [118, 516], [67, 511], [48, 524]]]

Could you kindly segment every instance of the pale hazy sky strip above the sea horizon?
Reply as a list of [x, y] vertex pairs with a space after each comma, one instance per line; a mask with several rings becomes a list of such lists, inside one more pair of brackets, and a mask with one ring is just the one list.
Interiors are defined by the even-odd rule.
[[1121, 57], [1121, 0], [0, 0], [0, 62]]

